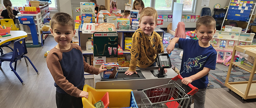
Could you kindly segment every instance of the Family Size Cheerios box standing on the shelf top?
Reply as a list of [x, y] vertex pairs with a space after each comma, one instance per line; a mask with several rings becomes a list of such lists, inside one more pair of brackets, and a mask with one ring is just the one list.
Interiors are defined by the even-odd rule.
[[80, 2], [81, 16], [82, 14], [92, 14], [92, 23], [95, 23], [94, 3]]

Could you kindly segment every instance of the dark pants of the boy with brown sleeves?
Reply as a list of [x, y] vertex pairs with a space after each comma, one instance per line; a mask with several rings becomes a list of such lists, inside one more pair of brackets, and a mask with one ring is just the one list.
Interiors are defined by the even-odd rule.
[[56, 91], [57, 108], [83, 108], [82, 98]]

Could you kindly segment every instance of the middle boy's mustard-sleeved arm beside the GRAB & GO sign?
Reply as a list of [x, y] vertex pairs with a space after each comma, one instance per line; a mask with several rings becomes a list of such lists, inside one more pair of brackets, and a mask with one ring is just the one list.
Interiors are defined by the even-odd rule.
[[139, 31], [136, 31], [132, 36], [132, 46], [131, 46], [131, 61], [129, 70], [134, 72], [136, 71], [137, 60], [140, 54], [140, 44], [141, 44], [141, 36], [142, 34]]

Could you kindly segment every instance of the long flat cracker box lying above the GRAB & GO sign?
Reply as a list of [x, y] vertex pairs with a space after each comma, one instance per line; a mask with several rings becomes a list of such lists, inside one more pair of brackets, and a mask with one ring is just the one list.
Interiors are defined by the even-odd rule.
[[94, 32], [116, 32], [113, 23], [84, 23], [82, 27], [83, 34], [93, 34]]

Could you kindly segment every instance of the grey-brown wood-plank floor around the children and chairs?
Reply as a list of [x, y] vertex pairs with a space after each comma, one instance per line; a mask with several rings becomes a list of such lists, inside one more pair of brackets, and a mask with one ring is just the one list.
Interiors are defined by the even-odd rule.
[[[22, 61], [18, 61], [16, 70], [25, 85], [21, 85], [19, 79], [11, 71], [10, 62], [2, 63], [0, 108], [56, 108], [56, 88], [47, 68], [46, 58], [44, 58], [44, 52], [51, 50], [56, 44], [54, 38], [48, 36], [43, 49], [41, 47], [27, 48], [28, 54], [26, 56], [31, 59], [40, 74], [36, 74], [30, 64], [27, 67], [24, 58], [22, 58]], [[13, 42], [10, 46], [13, 47]], [[3, 50], [4, 53], [11, 51], [9, 48], [3, 48]], [[93, 83], [93, 79], [85, 80], [85, 84], [92, 87]], [[228, 91], [228, 88], [206, 90], [206, 108], [254, 108], [255, 106], [255, 99], [243, 101], [233, 91]]]

